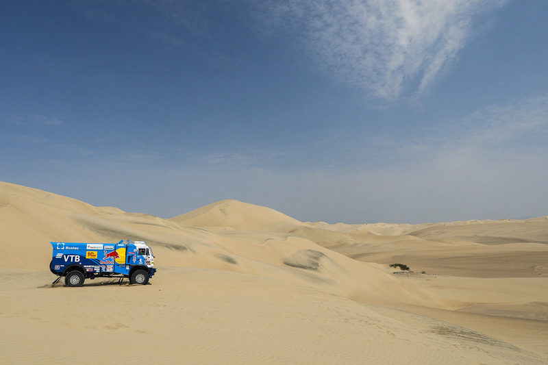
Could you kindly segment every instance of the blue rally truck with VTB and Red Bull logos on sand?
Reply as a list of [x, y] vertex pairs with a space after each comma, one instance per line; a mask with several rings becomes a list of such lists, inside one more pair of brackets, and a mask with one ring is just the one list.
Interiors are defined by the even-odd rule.
[[131, 284], [147, 284], [154, 275], [154, 255], [144, 241], [118, 243], [50, 242], [53, 257], [51, 273], [64, 277], [66, 286], [82, 286], [84, 279], [125, 277]]

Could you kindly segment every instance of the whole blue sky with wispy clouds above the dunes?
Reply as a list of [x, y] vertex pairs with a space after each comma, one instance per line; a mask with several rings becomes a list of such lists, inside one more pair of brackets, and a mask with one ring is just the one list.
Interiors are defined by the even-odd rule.
[[0, 180], [169, 218], [548, 214], [548, 2], [3, 1]]

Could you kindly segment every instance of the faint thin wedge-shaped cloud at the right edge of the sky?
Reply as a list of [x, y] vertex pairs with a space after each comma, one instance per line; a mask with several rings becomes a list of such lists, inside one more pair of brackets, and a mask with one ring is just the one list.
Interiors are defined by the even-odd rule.
[[[408, 159], [448, 155], [516, 155], [548, 152], [548, 95], [506, 105], [490, 105], [458, 121], [424, 129], [407, 140], [388, 140], [390, 149]], [[384, 142], [384, 144], [388, 144]]]

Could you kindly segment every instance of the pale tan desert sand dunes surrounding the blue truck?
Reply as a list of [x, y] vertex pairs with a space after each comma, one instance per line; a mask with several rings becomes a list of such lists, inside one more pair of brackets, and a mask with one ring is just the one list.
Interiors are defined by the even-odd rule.
[[[164, 219], [0, 182], [0, 231], [0, 364], [548, 364], [548, 217]], [[51, 284], [49, 242], [126, 239], [153, 247], [149, 285]]]

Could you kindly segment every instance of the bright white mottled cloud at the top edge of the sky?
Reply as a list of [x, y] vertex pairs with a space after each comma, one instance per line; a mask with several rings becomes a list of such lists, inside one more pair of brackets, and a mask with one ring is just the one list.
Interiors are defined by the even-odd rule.
[[482, 0], [261, 4], [267, 32], [292, 34], [325, 74], [388, 101], [426, 92], [466, 45], [473, 17], [493, 7]]

